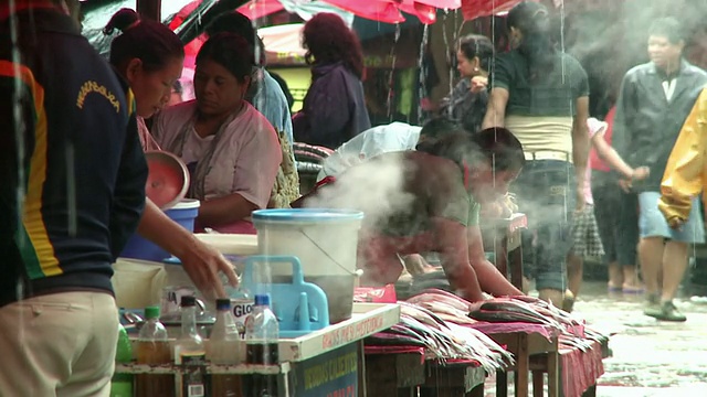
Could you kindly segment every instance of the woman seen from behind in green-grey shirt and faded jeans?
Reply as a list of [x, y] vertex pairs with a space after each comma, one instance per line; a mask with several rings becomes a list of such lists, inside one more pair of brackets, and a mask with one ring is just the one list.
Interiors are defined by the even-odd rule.
[[584, 211], [589, 83], [580, 63], [556, 49], [545, 6], [519, 3], [507, 26], [511, 50], [496, 58], [484, 128], [506, 127], [523, 143], [528, 164], [516, 190], [532, 228], [529, 270], [540, 297], [561, 305], [571, 218]]

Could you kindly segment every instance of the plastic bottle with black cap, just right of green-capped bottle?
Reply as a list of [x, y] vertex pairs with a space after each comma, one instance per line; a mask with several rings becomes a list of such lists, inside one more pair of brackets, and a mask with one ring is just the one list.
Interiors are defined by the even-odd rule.
[[207, 352], [197, 329], [197, 300], [194, 297], [181, 297], [181, 335], [175, 344], [175, 364], [181, 365], [181, 376], [177, 376], [180, 397], [205, 397]]

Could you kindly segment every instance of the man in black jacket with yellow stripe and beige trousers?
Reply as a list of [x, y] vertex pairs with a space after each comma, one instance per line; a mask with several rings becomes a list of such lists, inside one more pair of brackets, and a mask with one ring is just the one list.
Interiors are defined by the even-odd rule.
[[0, 6], [0, 395], [107, 396], [112, 264], [145, 205], [135, 101], [67, 15], [76, 1], [11, 3]]

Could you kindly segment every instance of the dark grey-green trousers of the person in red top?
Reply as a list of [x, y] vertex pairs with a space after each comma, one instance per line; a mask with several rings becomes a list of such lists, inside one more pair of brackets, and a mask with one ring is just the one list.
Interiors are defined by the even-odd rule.
[[592, 170], [594, 218], [604, 247], [604, 264], [635, 266], [639, 244], [639, 196], [624, 193], [611, 172]]

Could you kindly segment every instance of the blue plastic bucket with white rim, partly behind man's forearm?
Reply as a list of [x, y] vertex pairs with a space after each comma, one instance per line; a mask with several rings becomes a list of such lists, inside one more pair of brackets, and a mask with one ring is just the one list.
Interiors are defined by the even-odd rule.
[[[184, 198], [179, 204], [165, 211], [165, 215], [169, 216], [170, 219], [177, 222], [189, 232], [194, 230], [194, 219], [198, 214], [199, 201], [191, 198]], [[156, 244], [140, 237], [140, 235], [136, 233], [128, 240], [123, 253], [120, 253], [120, 257], [162, 261], [163, 259], [171, 257], [171, 254], [163, 250]]]

